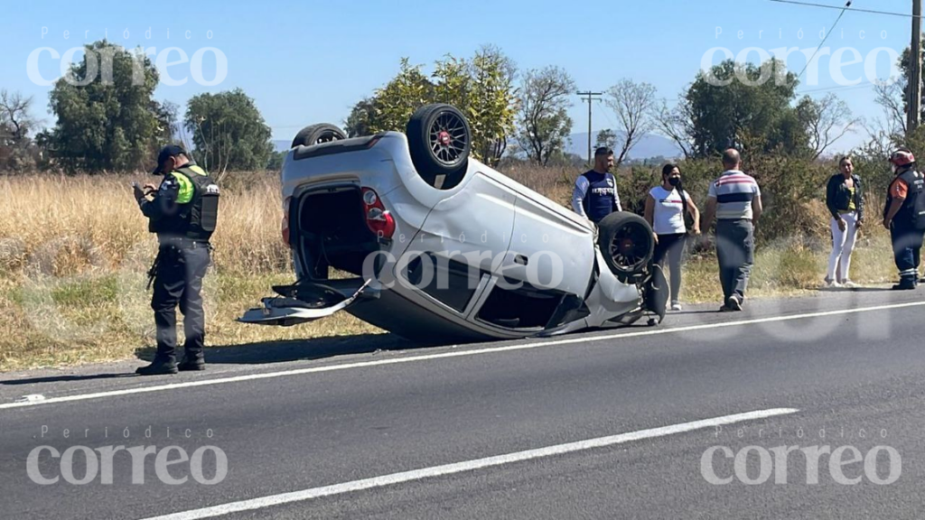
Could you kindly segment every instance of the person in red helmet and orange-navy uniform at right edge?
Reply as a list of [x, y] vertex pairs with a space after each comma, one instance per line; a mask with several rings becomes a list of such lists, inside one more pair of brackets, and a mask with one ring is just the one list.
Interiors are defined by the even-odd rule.
[[916, 159], [908, 148], [890, 156], [896, 178], [890, 183], [883, 208], [883, 227], [890, 229], [893, 253], [899, 268], [896, 291], [908, 291], [919, 285], [919, 262], [922, 233], [925, 232], [925, 177], [916, 168]]

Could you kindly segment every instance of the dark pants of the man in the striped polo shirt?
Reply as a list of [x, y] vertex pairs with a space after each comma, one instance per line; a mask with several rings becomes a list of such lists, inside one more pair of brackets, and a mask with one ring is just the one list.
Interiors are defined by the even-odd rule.
[[751, 220], [718, 220], [716, 255], [720, 261], [723, 302], [732, 295], [744, 301], [752, 264], [755, 263], [755, 228]]

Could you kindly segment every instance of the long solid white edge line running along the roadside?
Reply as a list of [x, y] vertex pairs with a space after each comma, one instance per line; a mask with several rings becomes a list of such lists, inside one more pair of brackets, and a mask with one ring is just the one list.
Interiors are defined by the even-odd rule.
[[746, 319], [746, 320], [741, 320], [741, 321], [730, 321], [730, 322], [724, 322], [724, 323], [708, 323], [708, 324], [703, 324], [703, 325], [692, 325], [690, 327], [655, 328], [651, 330], [625, 332], [622, 334], [609, 334], [605, 336], [590, 336], [590, 337], [578, 336], [578, 337], [567, 338], [567, 339], [562, 339], [562, 340], [542, 340], [542, 341], [536, 341], [533, 343], [518, 343], [518, 344], [513, 344], [513, 345], [505, 345], [501, 347], [487, 347], [484, 349], [475, 349], [475, 350], [469, 350], [469, 351], [413, 355], [413, 356], [397, 357], [397, 358], [391, 358], [391, 359], [380, 359], [376, 361], [362, 361], [358, 363], [347, 363], [343, 365], [313, 366], [311, 368], [297, 368], [295, 370], [284, 370], [284, 371], [279, 371], [279, 372], [264, 372], [260, 374], [248, 374], [245, 376], [232, 376], [230, 378], [203, 379], [199, 381], [169, 383], [166, 385], [156, 385], [156, 386], [151, 386], [151, 387], [141, 387], [141, 388], [124, 389], [124, 390], [109, 390], [109, 391], [101, 391], [101, 392], [94, 392], [94, 393], [82, 393], [82, 394], [76, 394], [76, 395], [67, 395], [63, 397], [49, 397], [49, 398], [46, 398], [44, 401], [36, 401], [36, 402], [5, 402], [3, 404], [0, 404], [0, 410], [6, 410], [9, 408], [21, 408], [25, 406], [41, 406], [45, 404], [55, 404], [57, 402], [87, 401], [91, 399], [102, 399], [105, 397], [117, 397], [120, 395], [132, 395], [136, 393], [177, 390], [177, 389], [186, 389], [186, 388], [192, 388], [192, 387], [205, 387], [209, 385], [238, 383], [241, 381], [253, 381], [257, 379], [301, 376], [303, 374], [315, 374], [318, 372], [332, 372], [335, 370], [348, 370], [351, 368], [364, 368], [368, 366], [396, 365], [399, 363], [413, 363], [416, 361], [428, 361], [432, 359], [462, 357], [462, 356], [479, 355], [479, 354], [485, 354], [485, 353], [506, 353], [506, 352], [512, 352], [512, 351], [524, 351], [524, 350], [529, 350], [529, 349], [536, 349], [536, 348], [541, 348], [541, 347], [570, 345], [573, 343], [593, 343], [593, 342], [598, 342], [598, 341], [621, 340], [623, 338], [639, 338], [643, 336], [658, 336], [660, 334], [673, 334], [675, 332], [690, 332], [693, 330], [703, 330], [707, 328], [740, 327], [743, 325], [756, 325], [759, 323], [792, 321], [796, 319], [806, 319], [810, 317], [851, 315], [851, 314], [857, 314], [857, 313], [868, 313], [868, 312], [874, 312], [874, 311], [902, 309], [902, 308], [907, 308], [907, 307], [918, 307], [918, 306], [923, 306], [923, 305], [925, 305], [925, 302], [894, 303], [891, 305], [878, 305], [874, 307], [859, 307], [857, 309], [825, 311], [825, 312], [808, 313], [808, 314], [795, 315], [795, 316], [772, 316], [772, 317], [764, 317], [764, 318], [756, 318], [756, 319]]

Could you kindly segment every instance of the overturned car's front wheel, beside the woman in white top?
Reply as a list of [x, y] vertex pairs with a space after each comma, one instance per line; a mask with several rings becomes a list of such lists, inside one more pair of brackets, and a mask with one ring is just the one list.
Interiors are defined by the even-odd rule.
[[648, 270], [655, 253], [652, 228], [645, 218], [615, 212], [598, 224], [598, 245], [611, 273], [623, 282], [635, 281]]

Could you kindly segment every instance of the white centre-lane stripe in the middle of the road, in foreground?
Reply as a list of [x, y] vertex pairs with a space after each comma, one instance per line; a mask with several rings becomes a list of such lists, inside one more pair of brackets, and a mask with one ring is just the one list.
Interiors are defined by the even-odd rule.
[[613, 446], [615, 444], [632, 442], [634, 440], [654, 439], [657, 437], [665, 437], [668, 435], [685, 433], [707, 427], [727, 426], [735, 423], [764, 419], [778, 415], [796, 414], [797, 412], [799, 412], [799, 410], [796, 410], [795, 408], [772, 408], [770, 410], [746, 412], [745, 414], [723, 415], [722, 417], [703, 419], [700, 421], [693, 421], [680, 425], [642, 429], [630, 433], [613, 435], [610, 437], [598, 437], [597, 439], [579, 440], [577, 442], [557, 444], [555, 446], [538, 448], [536, 450], [527, 450], [525, 452], [513, 452], [504, 455], [497, 455], [494, 457], [487, 457], [484, 459], [465, 461], [462, 463], [437, 465], [432, 467], [425, 467], [423, 469], [415, 469], [413, 471], [403, 471], [401, 473], [383, 475], [381, 477], [353, 480], [351, 482], [324, 486], [322, 488], [302, 489], [301, 491], [292, 491], [290, 493], [270, 495], [268, 497], [261, 497], [259, 499], [229, 502], [212, 507], [205, 507], [203, 509], [185, 511], [182, 513], [154, 516], [144, 520], [197, 520], [199, 518], [213, 518], [223, 514], [240, 513], [241, 511], [253, 511], [256, 509], [263, 509], [265, 507], [272, 507], [275, 505], [296, 501], [308, 501], [319, 497], [350, 493], [351, 491], [359, 491], [361, 489], [381, 488], [383, 486], [401, 484], [402, 482], [410, 482], [412, 480], [420, 480], [422, 478], [452, 475], [455, 473], [473, 471], [491, 466], [518, 463], [531, 459], [538, 459], [541, 457], [549, 457], [552, 455], [561, 455], [562, 453], [582, 452], [594, 448], [602, 448], [605, 446]]

